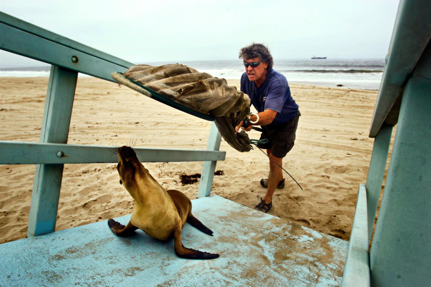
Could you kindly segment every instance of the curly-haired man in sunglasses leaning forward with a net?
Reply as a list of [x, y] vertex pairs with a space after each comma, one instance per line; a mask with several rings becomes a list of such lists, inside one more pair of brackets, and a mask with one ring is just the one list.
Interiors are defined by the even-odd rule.
[[[245, 73], [241, 76], [241, 91], [246, 93], [258, 111], [259, 121], [253, 125], [262, 126], [260, 139], [268, 139], [266, 144], [258, 144], [266, 149], [269, 160], [268, 179], [260, 184], [267, 188], [266, 194], [255, 209], [268, 212], [272, 207], [275, 188], [284, 188], [281, 170], [283, 157], [292, 149], [300, 117], [299, 107], [290, 95], [286, 77], [272, 69], [273, 60], [268, 47], [253, 43], [240, 49], [239, 58], [244, 60]], [[251, 121], [256, 121], [253, 115]], [[251, 130], [249, 120], [244, 120], [235, 128]], [[278, 166], [278, 165], [280, 166]]]

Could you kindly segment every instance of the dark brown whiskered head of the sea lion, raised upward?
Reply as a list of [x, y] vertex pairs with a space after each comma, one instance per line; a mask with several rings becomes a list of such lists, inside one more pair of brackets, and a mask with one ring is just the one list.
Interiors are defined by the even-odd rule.
[[119, 162], [117, 171], [120, 176], [120, 184], [131, 191], [131, 188], [140, 185], [143, 179], [152, 178], [148, 170], [138, 160], [135, 151], [129, 146], [123, 145], [117, 148]]

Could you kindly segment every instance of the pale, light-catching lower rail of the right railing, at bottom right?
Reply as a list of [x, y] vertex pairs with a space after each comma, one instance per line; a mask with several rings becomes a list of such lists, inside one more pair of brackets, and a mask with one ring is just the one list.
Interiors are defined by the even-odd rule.
[[367, 191], [360, 184], [341, 287], [369, 287]]

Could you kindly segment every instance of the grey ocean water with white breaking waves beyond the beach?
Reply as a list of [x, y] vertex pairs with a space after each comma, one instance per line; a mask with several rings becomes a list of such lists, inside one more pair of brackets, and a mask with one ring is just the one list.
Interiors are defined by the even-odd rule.
[[[200, 72], [225, 79], [240, 79], [245, 68], [241, 59], [227, 61], [178, 61]], [[172, 62], [147, 62], [165, 65]], [[378, 89], [384, 59], [275, 59], [274, 69], [289, 83], [317, 86], [343, 85], [353, 89]], [[49, 77], [50, 67], [0, 69], [0, 77]], [[80, 77], [87, 75], [79, 74]]]

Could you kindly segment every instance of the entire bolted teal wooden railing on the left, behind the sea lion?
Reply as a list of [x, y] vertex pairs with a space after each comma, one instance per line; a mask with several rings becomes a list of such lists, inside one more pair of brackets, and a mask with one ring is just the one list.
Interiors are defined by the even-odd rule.
[[[28, 236], [55, 229], [63, 165], [115, 163], [109, 146], [67, 144], [78, 72], [116, 82], [133, 64], [0, 12], [0, 49], [51, 64], [39, 143], [0, 141], [0, 164], [36, 164]], [[5, 96], [5, 95], [3, 95]], [[212, 123], [207, 149], [135, 148], [143, 162], [204, 161], [198, 197], [209, 195], [221, 136]]]

